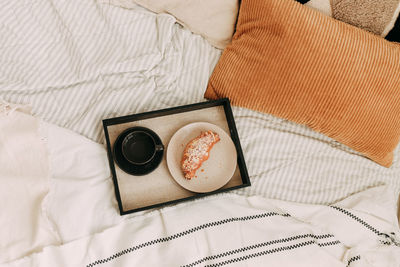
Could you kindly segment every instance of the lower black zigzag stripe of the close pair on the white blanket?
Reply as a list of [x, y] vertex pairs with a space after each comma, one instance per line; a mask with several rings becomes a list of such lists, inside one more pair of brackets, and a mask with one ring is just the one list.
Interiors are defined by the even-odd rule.
[[[318, 245], [320, 245], [320, 246], [330, 246], [330, 245], [337, 244], [335, 242], [339, 243], [339, 241], [334, 241], [334, 242], [328, 242], [328, 243], [318, 244]], [[245, 256], [242, 256], [242, 257], [238, 257], [238, 258], [234, 258], [234, 259], [230, 259], [230, 260], [226, 260], [226, 261], [222, 261], [222, 262], [218, 262], [218, 263], [214, 263], [214, 264], [209, 264], [209, 265], [206, 265], [205, 267], [224, 266], [224, 265], [227, 265], [227, 264], [237, 263], [237, 262], [241, 262], [241, 261], [249, 260], [249, 259], [256, 258], [256, 257], [277, 253], [277, 252], [298, 249], [298, 248], [310, 246], [310, 245], [313, 245], [313, 244], [317, 244], [317, 242], [315, 240], [310, 240], [310, 241], [306, 241], [306, 242], [302, 242], [302, 243], [298, 243], [298, 244], [294, 244], [294, 245], [290, 245], [290, 246], [269, 249], [269, 250], [265, 250], [265, 251], [261, 251], [261, 252], [257, 252], [257, 253], [253, 253], [253, 254], [249, 254], [249, 255], [245, 255]]]

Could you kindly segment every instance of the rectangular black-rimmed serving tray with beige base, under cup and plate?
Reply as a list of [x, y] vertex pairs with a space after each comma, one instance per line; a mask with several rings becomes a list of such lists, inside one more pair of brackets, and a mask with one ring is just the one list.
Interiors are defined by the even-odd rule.
[[[148, 127], [160, 135], [164, 146], [167, 147], [169, 139], [176, 130], [188, 123], [197, 121], [206, 121], [225, 128], [235, 144], [237, 151], [237, 171], [231, 178], [231, 181], [224, 187], [209, 193], [194, 193], [181, 188], [173, 181], [166, 167], [165, 154], [158, 170], [156, 169], [156, 171], [146, 176], [138, 177], [129, 175], [116, 165], [113, 155], [113, 144], [117, 136], [127, 128], [133, 126]], [[228, 98], [108, 118], [103, 120], [103, 128], [115, 195], [121, 215], [251, 185]]]

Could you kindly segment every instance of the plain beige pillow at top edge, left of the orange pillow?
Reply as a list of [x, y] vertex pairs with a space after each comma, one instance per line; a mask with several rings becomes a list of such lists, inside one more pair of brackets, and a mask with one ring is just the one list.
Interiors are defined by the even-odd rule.
[[156, 13], [168, 13], [193, 33], [223, 49], [232, 39], [237, 0], [107, 0], [109, 4], [132, 8], [139, 4]]

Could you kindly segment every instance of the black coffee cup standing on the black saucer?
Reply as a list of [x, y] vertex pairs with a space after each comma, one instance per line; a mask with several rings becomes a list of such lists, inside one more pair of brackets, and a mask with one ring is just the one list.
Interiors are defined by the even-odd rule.
[[157, 143], [152, 130], [144, 127], [135, 127], [122, 140], [122, 155], [132, 164], [144, 165], [149, 163], [158, 151], [164, 146]]

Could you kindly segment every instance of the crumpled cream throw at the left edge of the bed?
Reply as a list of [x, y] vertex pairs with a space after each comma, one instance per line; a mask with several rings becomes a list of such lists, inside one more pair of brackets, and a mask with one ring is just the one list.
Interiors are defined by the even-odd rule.
[[0, 101], [0, 262], [59, 244], [45, 207], [47, 149], [29, 110]]

